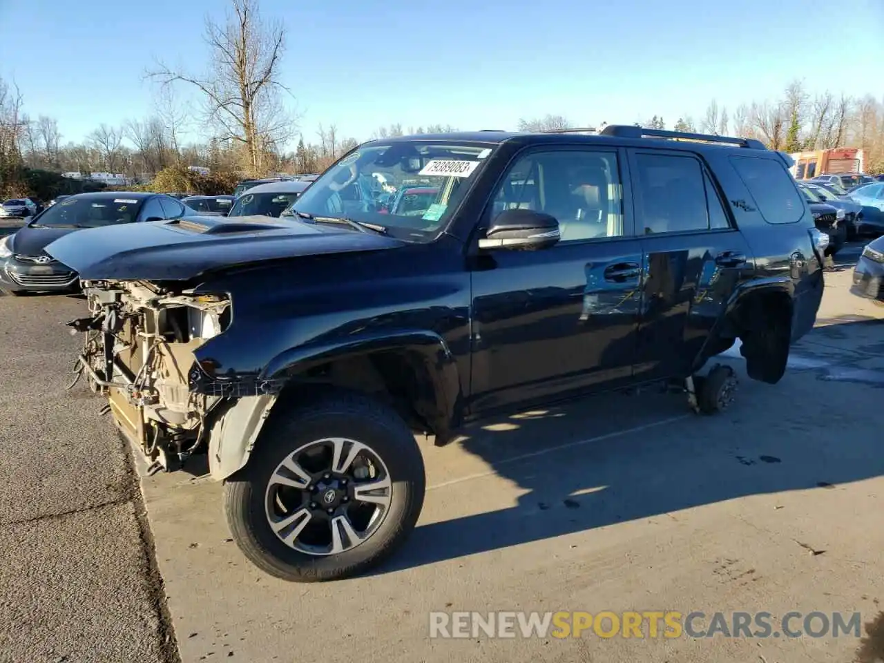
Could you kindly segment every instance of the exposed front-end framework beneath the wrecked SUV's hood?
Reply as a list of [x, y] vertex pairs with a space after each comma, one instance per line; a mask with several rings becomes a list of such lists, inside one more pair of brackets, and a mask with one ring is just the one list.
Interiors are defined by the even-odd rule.
[[191, 383], [203, 375], [194, 350], [230, 324], [231, 302], [145, 281], [89, 281], [83, 292], [89, 316], [68, 323], [84, 334], [71, 386], [85, 374], [94, 392], [107, 395], [114, 422], [141, 447], [149, 474], [179, 469], [204, 445], [207, 417], [224, 400]]

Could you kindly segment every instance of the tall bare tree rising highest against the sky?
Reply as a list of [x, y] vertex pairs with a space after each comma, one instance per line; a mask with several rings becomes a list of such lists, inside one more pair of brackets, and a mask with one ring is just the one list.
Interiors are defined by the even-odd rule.
[[217, 138], [242, 144], [249, 170], [257, 173], [263, 168], [261, 146], [268, 139], [284, 143], [293, 135], [293, 120], [281, 100], [282, 93], [291, 92], [279, 80], [286, 30], [281, 23], [261, 19], [257, 0], [231, 4], [224, 25], [206, 19], [209, 72], [195, 76], [160, 63], [149, 75], [164, 85], [183, 81], [199, 90], [208, 118], [221, 127]]

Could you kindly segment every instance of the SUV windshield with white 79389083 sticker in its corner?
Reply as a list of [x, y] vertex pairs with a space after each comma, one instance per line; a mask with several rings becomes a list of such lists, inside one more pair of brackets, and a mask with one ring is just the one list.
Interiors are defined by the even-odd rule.
[[385, 226], [402, 239], [431, 240], [476, 179], [493, 143], [367, 143], [325, 171], [294, 211]]

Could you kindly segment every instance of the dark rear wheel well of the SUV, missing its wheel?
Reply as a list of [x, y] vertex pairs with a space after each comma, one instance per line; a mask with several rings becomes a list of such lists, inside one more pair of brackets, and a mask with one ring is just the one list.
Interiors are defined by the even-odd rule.
[[749, 293], [729, 317], [740, 339], [746, 372], [754, 380], [776, 384], [786, 372], [792, 339], [792, 298], [781, 290]]

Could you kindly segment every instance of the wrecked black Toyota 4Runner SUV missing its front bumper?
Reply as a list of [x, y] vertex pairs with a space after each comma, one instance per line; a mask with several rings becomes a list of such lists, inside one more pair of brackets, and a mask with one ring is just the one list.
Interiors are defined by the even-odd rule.
[[780, 380], [827, 240], [789, 165], [758, 141], [635, 126], [382, 139], [291, 216], [47, 251], [80, 273], [77, 370], [119, 431], [157, 471], [205, 450], [248, 558], [327, 580], [415, 527], [415, 432], [444, 444], [502, 411], [676, 381], [711, 412], [730, 371], [693, 377], [735, 339], [751, 378]]

